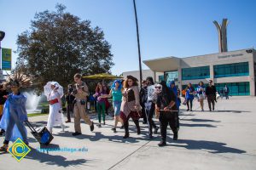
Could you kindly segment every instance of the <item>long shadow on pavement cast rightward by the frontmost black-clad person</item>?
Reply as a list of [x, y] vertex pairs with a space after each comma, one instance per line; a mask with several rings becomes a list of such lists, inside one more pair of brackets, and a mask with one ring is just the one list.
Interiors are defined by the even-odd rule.
[[[172, 140], [172, 139], [170, 139]], [[181, 145], [185, 144], [185, 145]], [[213, 142], [206, 140], [189, 140], [189, 139], [178, 139], [175, 143], [170, 144], [176, 147], [183, 147], [188, 150], [207, 150], [209, 153], [236, 153], [242, 154], [246, 153], [245, 150], [238, 150], [236, 148], [231, 148], [226, 146], [225, 143]]]

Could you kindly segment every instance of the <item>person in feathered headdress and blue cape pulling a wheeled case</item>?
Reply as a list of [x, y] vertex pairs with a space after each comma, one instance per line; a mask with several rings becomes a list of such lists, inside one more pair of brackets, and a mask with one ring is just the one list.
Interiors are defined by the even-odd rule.
[[0, 122], [0, 127], [5, 130], [5, 139], [0, 148], [2, 152], [7, 152], [9, 141], [15, 142], [18, 138], [28, 144], [26, 127], [23, 124], [27, 121], [26, 96], [20, 94], [20, 88], [27, 88], [31, 85], [31, 79], [20, 72], [15, 72], [7, 78], [6, 87], [10, 88], [11, 94], [5, 102]]

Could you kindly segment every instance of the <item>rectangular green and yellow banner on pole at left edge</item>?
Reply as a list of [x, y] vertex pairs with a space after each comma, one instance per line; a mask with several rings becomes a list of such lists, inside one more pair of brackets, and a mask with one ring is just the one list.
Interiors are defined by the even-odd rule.
[[2, 70], [12, 70], [12, 49], [2, 48]]

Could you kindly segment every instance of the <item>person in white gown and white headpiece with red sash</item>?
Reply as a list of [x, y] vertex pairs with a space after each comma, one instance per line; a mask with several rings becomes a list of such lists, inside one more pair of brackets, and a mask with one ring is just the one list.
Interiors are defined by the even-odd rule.
[[50, 88], [52, 91], [49, 93], [47, 100], [49, 101], [49, 117], [47, 127], [49, 132], [52, 133], [54, 126], [61, 125], [62, 132], [64, 132], [65, 125], [63, 124], [61, 113], [61, 95], [58, 93], [59, 83], [51, 82]]

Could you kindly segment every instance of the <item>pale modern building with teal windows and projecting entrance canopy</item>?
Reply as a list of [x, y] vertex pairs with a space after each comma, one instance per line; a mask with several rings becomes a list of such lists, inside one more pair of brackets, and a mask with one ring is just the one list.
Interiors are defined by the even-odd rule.
[[153, 71], [155, 81], [174, 80], [180, 89], [189, 82], [197, 87], [198, 82], [212, 80], [218, 91], [227, 84], [230, 95], [255, 95], [256, 51], [253, 48], [185, 58], [149, 59], [143, 63]]

